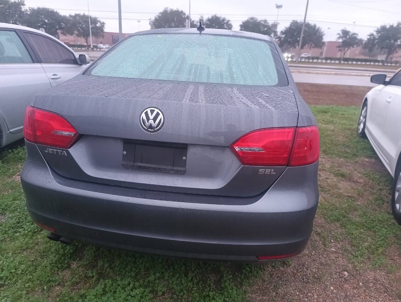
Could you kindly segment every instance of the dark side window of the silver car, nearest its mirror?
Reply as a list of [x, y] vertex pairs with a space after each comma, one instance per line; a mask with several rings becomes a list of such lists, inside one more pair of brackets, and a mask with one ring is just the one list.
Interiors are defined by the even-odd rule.
[[75, 56], [63, 45], [41, 34], [24, 32], [24, 37], [45, 64], [76, 64]]

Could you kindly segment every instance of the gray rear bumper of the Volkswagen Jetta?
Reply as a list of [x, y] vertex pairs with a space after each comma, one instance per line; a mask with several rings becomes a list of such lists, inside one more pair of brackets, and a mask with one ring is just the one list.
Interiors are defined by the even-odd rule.
[[163, 201], [152, 198], [161, 192], [146, 190], [133, 197], [132, 188], [70, 180], [26, 144], [21, 180], [28, 211], [59, 235], [144, 253], [257, 261], [302, 251], [312, 232], [317, 163], [287, 168], [252, 204], [216, 205]]

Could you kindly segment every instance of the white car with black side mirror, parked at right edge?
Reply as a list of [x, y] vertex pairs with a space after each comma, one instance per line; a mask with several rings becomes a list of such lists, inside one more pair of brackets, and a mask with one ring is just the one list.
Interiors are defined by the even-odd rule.
[[380, 85], [363, 100], [358, 135], [369, 139], [394, 177], [391, 209], [401, 225], [401, 70], [388, 81], [386, 75], [372, 75], [371, 82]]

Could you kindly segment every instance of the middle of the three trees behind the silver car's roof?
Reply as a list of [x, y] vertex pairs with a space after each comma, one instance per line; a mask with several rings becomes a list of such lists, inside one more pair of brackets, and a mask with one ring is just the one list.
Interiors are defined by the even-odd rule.
[[61, 15], [59, 12], [46, 7], [29, 8], [22, 24], [31, 28], [45, 29], [45, 32], [52, 36], [57, 36], [58, 30], [65, 34], [67, 24], [69, 23], [68, 17]]

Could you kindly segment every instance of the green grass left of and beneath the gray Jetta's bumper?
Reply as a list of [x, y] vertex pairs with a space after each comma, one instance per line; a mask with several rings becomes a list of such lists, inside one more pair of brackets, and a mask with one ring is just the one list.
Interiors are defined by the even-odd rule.
[[30, 220], [16, 174], [25, 148], [0, 156], [0, 300], [243, 301], [252, 264], [166, 259], [54, 244]]

